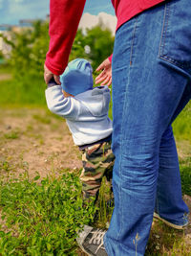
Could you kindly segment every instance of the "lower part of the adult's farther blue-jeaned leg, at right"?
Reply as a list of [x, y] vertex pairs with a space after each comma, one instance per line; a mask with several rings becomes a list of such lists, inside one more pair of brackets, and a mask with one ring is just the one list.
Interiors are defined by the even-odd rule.
[[159, 145], [159, 177], [155, 211], [170, 223], [187, 223], [188, 207], [181, 196], [180, 167], [171, 126], [165, 130]]

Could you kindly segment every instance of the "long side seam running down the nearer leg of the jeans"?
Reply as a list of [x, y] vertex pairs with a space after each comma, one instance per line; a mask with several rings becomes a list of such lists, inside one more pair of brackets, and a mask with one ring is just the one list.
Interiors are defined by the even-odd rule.
[[[134, 25], [134, 30], [133, 30], [133, 35], [132, 35], [132, 46], [131, 46], [131, 52], [130, 52], [130, 62], [131, 62], [131, 55], [132, 55], [132, 51], [133, 51], [133, 41], [134, 41], [134, 38], [135, 38], [135, 33], [136, 33], [136, 27], [137, 27], [137, 23], [138, 23], [138, 18], [136, 19], [136, 22], [135, 22], [135, 25]], [[127, 81], [127, 84], [129, 84], [129, 78], [130, 78], [130, 71], [131, 71], [131, 64], [129, 65], [129, 71], [128, 71], [128, 81]], [[125, 91], [125, 96], [124, 96], [124, 105], [123, 105], [123, 110], [122, 110], [122, 118], [121, 118], [121, 133], [124, 134], [124, 119], [126, 118], [126, 116], [124, 115], [124, 109], [126, 108], [126, 103], [127, 103], [127, 90]], [[123, 140], [122, 140], [123, 141]], [[120, 144], [120, 152], [122, 151], [122, 146], [123, 146], [123, 142]], [[121, 173], [121, 165], [122, 165], [122, 154], [120, 153], [120, 161], [119, 161], [119, 171], [118, 171], [118, 174], [119, 174], [119, 177], [121, 179], [121, 176], [122, 176], [122, 173]], [[122, 210], [121, 210], [121, 187], [118, 188], [118, 198], [119, 198], [119, 214], [121, 216], [120, 220], [123, 220], [123, 216], [122, 216]], [[121, 224], [121, 221], [119, 223], [119, 231], [118, 231], [118, 234], [117, 234], [117, 241], [118, 241], [118, 237], [121, 233], [121, 230], [122, 230], [122, 224]], [[119, 243], [118, 243], [119, 244]]]

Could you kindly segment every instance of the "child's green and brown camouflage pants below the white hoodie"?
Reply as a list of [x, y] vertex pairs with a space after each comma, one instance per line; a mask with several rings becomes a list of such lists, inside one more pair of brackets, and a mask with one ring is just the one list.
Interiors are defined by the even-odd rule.
[[82, 150], [83, 170], [80, 175], [84, 198], [98, 196], [102, 177], [112, 179], [115, 156], [111, 142], [103, 142]]

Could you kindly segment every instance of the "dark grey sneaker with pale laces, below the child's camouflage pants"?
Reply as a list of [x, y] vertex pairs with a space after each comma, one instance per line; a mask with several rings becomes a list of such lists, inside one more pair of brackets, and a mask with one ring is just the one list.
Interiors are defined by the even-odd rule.
[[92, 226], [84, 225], [83, 231], [78, 234], [76, 239], [80, 248], [89, 256], [107, 256], [103, 244], [103, 237], [106, 231]]

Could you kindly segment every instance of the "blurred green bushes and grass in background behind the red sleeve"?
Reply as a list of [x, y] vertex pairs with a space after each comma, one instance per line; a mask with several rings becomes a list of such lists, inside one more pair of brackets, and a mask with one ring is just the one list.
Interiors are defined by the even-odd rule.
[[[0, 94], [4, 95], [1, 104], [45, 105], [43, 65], [49, 47], [48, 28], [47, 22], [36, 21], [30, 29], [12, 32], [11, 40], [4, 37], [12, 48], [8, 73], [13, 75], [13, 80], [1, 81]], [[95, 68], [103, 58], [111, 55], [113, 42], [108, 30], [96, 27], [86, 34], [78, 30], [70, 60], [87, 58]], [[89, 53], [85, 51], [88, 44]]]

